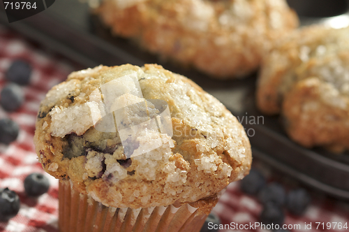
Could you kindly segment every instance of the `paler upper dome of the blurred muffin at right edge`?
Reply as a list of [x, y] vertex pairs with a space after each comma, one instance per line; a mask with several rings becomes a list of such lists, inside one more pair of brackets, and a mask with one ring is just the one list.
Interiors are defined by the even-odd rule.
[[315, 25], [296, 30], [279, 40], [264, 58], [258, 78], [260, 110], [268, 114], [279, 113], [283, 96], [297, 82], [311, 77], [329, 85], [327, 89], [331, 90], [321, 91], [327, 103], [346, 105], [341, 96], [349, 96], [348, 38], [349, 27], [332, 29]]

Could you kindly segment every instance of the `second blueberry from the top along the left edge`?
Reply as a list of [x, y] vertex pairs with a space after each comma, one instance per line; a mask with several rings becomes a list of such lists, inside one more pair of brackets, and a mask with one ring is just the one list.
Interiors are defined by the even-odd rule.
[[1, 90], [0, 104], [6, 111], [15, 111], [24, 102], [24, 93], [17, 84], [10, 83]]

